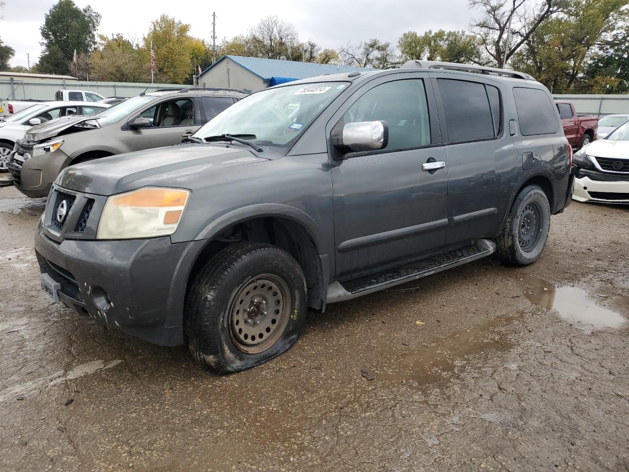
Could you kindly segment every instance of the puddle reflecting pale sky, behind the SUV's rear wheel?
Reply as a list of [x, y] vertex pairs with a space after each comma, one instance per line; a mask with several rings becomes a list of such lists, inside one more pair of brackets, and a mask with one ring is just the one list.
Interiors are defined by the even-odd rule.
[[534, 305], [559, 313], [567, 322], [592, 325], [596, 328], [619, 328], [626, 319], [606, 305], [608, 296], [588, 293], [579, 287], [555, 287], [535, 280], [525, 293]]

